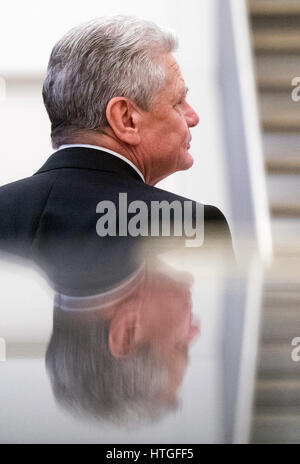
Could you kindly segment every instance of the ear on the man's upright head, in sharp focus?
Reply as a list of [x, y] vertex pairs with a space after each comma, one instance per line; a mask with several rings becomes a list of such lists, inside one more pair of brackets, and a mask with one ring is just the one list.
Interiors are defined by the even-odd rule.
[[106, 118], [118, 139], [128, 145], [138, 145], [140, 114], [129, 98], [114, 97], [106, 107]]

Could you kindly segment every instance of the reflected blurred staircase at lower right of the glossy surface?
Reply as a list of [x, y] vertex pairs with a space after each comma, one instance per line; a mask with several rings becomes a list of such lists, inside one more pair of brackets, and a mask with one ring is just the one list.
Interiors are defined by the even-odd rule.
[[265, 276], [252, 416], [254, 443], [300, 443], [300, 259], [275, 258]]

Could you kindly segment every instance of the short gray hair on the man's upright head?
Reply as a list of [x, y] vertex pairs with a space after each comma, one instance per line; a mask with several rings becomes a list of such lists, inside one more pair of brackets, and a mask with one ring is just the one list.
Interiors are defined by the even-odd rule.
[[80, 131], [103, 132], [108, 102], [123, 96], [147, 111], [163, 87], [163, 53], [173, 32], [130, 16], [103, 17], [71, 29], [53, 48], [43, 86], [52, 145]]

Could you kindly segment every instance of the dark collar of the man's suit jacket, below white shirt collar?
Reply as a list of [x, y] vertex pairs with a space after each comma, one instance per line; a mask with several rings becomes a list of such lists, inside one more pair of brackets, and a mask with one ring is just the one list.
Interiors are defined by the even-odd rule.
[[143, 182], [138, 173], [122, 159], [105, 151], [86, 147], [64, 148], [53, 153], [34, 175], [63, 168], [116, 172]]

